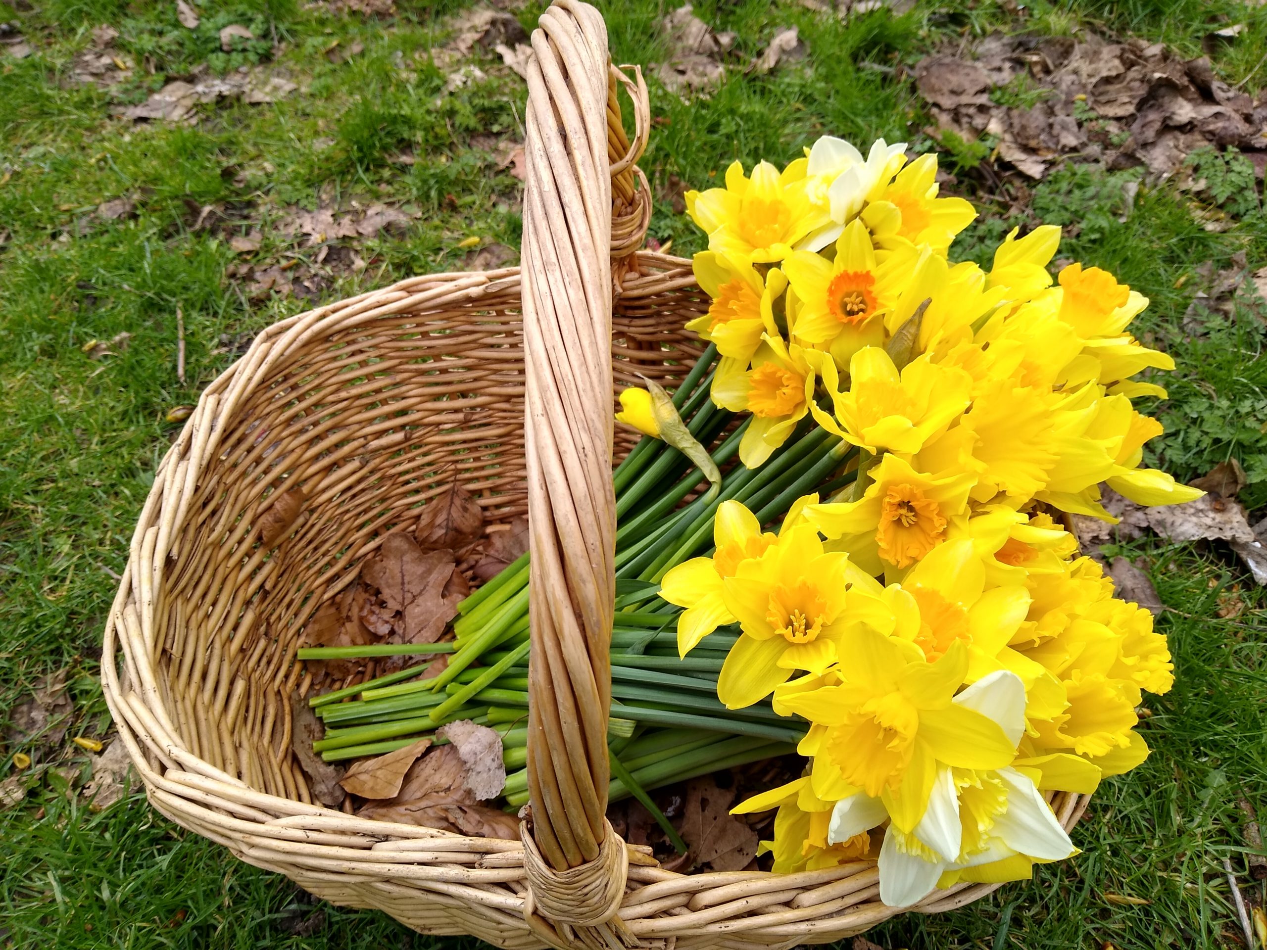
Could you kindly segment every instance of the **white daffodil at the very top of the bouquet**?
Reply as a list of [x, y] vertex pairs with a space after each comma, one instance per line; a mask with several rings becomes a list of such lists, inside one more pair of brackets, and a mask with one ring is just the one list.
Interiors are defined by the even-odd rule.
[[870, 193], [887, 184], [906, 162], [906, 143], [875, 142], [867, 158], [840, 138], [824, 136], [810, 149], [806, 179], [811, 200], [826, 203], [831, 223], [811, 233], [802, 251], [820, 251], [840, 237], [845, 224], [858, 217]]

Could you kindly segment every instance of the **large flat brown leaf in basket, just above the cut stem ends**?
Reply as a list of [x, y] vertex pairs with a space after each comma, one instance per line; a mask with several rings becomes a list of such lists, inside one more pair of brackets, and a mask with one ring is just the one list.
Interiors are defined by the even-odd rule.
[[465, 597], [451, 584], [456, 570], [454, 552], [423, 552], [403, 532], [388, 535], [378, 556], [367, 561], [361, 576], [379, 589], [383, 602], [399, 618], [395, 642], [433, 643], [457, 613]]

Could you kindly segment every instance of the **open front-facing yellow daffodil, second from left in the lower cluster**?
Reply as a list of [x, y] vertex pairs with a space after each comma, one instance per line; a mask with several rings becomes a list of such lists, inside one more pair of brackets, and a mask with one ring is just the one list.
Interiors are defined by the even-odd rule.
[[741, 561], [723, 581], [726, 608], [742, 630], [717, 679], [726, 707], [764, 699], [794, 670], [821, 674], [834, 664], [851, 624], [846, 589], [859, 576], [849, 555], [825, 551], [806, 523], [784, 529], [759, 559]]

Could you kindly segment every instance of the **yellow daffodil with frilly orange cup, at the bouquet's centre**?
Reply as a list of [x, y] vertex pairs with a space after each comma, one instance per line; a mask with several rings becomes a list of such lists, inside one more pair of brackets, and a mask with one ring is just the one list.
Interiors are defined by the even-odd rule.
[[870, 574], [910, 567], [945, 541], [952, 522], [965, 519], [976, 481], [968, 472], [925, 475], [892, 453], [869, 475], [859, 500], [810, 505], [806, 518]]

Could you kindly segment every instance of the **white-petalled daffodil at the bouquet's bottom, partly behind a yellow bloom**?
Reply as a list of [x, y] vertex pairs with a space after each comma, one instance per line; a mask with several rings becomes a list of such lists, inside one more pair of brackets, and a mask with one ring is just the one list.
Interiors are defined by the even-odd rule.
[[[1014, 744], [1025, 731], [1025, 687], [1016, 674], [996, 670], [954, 698], [993, 719]], [[887, 816], [879, 798], [864, 793], [836, 803], [829, 844], [873, 828]], [[879, 852], [879, 897], [908, 907], [929, 894], [946, 871], [978, 868], [1022, 855], [1060, 860], [1073, 852], [1034, 783], [1012, 768], [991, 771], [938, 765], [924, 816], [910, 832], [889, 823]], [[1028, 864], [1024, 868], [1028, 870]]]

